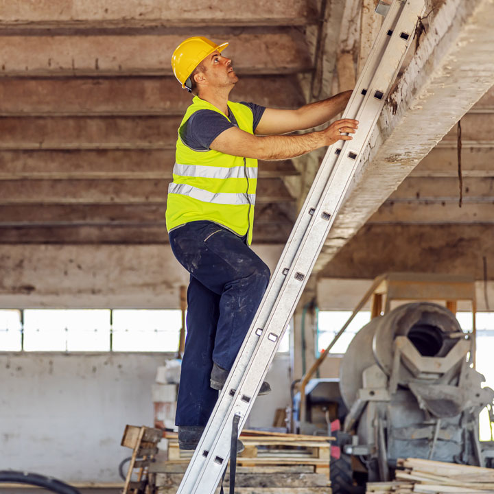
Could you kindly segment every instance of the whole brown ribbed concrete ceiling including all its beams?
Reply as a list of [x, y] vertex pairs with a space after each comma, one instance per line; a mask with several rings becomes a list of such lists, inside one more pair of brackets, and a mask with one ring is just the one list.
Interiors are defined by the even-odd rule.
[[[0, 253], [167, 244], [176, 128], [190, 102], [169, 65], [180, 40], [228, 40], [232, 99], [295, 108], [353, 87], [379, 29], [375, 3], [0, 0]], [[484, 242], [494, 238], [494, 4], [427, 0], [426, 13], [319, 275], [480, 279], [483, 258], [494, 263]], [[257, 248], [281, 250], [323, 154], [259, 163]]]

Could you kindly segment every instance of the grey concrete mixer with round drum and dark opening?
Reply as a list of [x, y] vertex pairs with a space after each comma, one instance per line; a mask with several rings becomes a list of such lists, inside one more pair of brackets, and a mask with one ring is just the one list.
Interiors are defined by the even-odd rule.
[[401, 305], [355, 335], [340, 366], [343, 451], [369, 482], [388, 480], [398, 458], [484, 466], [478, 416], [494, 391], [471, 357], [454, 315], [434, 303]]

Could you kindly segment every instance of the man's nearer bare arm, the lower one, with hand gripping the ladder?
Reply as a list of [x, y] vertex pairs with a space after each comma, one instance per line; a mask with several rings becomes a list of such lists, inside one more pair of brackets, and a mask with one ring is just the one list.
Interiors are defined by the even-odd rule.
[[353, 119], [337, 120], [325, 130], [290, 136], [256, 136], [232, 127], [224, 130], [209, 146], [210, 149], [233, 156], [263, 160], [294, 158], [307, 152], [329, 146], [337, 141], [350, 141], [358, 122]]

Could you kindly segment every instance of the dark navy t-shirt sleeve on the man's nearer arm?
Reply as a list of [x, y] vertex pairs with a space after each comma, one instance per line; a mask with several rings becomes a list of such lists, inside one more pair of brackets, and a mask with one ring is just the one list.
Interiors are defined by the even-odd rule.
[[234, 127], [226, 117], [213, 110], [198, 110], [180, 127], [180, 139], [195, 151], [207, 151], [224, 130]]

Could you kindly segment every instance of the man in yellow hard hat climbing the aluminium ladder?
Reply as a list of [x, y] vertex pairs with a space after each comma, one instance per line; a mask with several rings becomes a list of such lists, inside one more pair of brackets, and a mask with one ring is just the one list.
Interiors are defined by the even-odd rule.
[[[281, 135], [325, 124], [344, 110], [351, 91], [298, 110], [230, 102], [239, 79], [222, 56], [227, 46], [193, 37], [172, 56], [176, 78], [196, 93], [178, 129], [166, 212], [170, 246], [191, 274], [176, 412], [180, 449], [196, 448], [270, 278], [249, 247], [257, 159], [293, 158], [352, 139], [343, 134], [358, 124], [343, 119], [325, 130]], [[269, 391], [265, 382], [259, 394]]]

